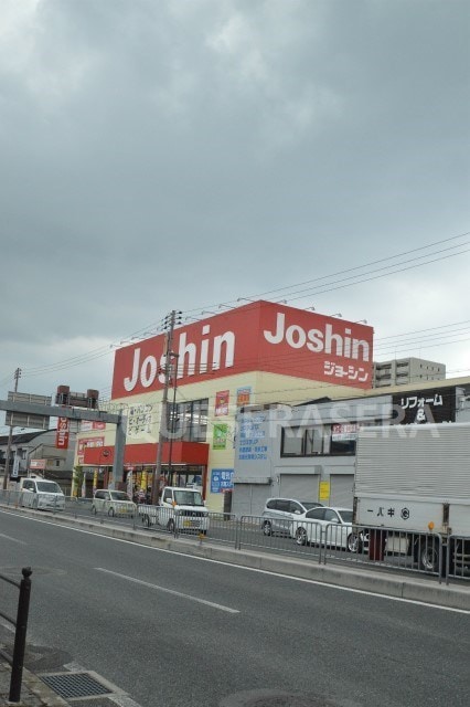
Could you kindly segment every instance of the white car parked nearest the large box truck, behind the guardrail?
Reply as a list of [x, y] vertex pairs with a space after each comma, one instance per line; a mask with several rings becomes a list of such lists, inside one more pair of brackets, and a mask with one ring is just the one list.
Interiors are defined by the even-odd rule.
[[297, 545], [324, 545], [343, 548], [349, 552], [362, 552], [368, 537], [364, 530], [355, 529], [350, 508], [323, 506], [312, 508], [295, 523], [293, 536]]

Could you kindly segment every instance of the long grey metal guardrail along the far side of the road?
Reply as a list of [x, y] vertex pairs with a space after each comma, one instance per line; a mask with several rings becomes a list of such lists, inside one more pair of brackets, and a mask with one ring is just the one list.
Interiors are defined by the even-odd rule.
[[[0, 493], [7, 505], [21, 505], [18, 492]], [[178, 537], [195, 537], [200, 541], [226, 544], [235, 549], [253, 548], [309, 558], [319, 563], [348, 562], [365, 568], [434, 574], [449, 583], [450, 579], [470, 579], [470, 537], [439, 534], [407, 532], [394, 528], [368, 528], [354, 524], [319, 524], [313, 520], [276, 519], [264, 516], [242, 516], [205, 511], [206, 523], [197, 520], [199, 510], [186, 516], [165, 507], [153, 507], [154, 516], [148, 521], [139, 511], [133, 516], [108, 515], [105, 509], [94, 517], [100, 524], [127, 524], [132, 529], [142, 526], [150, 531]], [[90, 516], [92, 499], [66, 498], [65, 510], [57, 513], [75, 518]], [[54, 510], [52, 513], [55, 513]], [[320, 527], [321, 525], [321, 527]]]

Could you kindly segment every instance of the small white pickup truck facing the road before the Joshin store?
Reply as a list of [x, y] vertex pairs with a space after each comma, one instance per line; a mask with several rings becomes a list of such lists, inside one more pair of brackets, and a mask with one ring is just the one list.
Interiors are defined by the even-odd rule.
[[178, 530], [202, 535], [209, 530], [209, 510], [201, 492], [194, 488], [165, 486], [158, 506], [138, 504], [137, 509], [148, 528], [154, 525], [170, 532]]

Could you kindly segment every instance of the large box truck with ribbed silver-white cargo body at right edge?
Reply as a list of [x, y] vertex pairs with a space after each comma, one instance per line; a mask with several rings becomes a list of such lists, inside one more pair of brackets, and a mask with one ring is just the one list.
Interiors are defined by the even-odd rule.
[[357, 434], [354, 523], [370, 552], [409, 555], [436, 572], [439, 546], [451, 573], [470, 572], [470, 424], [364, 426]]

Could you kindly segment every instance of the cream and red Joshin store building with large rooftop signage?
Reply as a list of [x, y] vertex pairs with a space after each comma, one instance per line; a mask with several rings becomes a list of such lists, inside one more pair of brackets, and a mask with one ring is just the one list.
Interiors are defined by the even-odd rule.
[[[116, 351], [109, 411], [127, 416], [117, 483], [130, 472], [132, 484], [151, 485], [167, 395], [164, 478], [158, 482], [202, 485], [213, 510], [227, 508], [233, 486], [237, 411], [361, 397], [372, 387], [372, 327], [282, 304], [260, 300], [178, 326], [169, 387], [165, 340], [161, 334]], [[109, 483], [114, 460], [114, 430], [96, 424], [82, 428], [75, 460], [92, 472], [95, 487]]]

